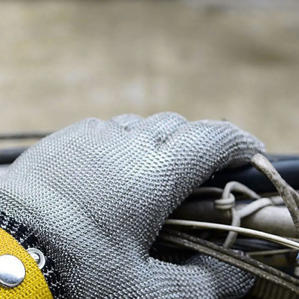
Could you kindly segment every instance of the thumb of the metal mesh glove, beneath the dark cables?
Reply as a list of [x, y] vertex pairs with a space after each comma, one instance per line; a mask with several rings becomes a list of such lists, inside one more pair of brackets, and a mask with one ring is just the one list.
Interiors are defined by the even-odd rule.
[[255, 282], [252, 274], [206, 255], [196, 255], [184, 265], [149, 258], [145, 268], [143, 275], [155, 278], [143, 279], [152, 283], [148, 288], [155, 298], [237, 299], [246, 295]]

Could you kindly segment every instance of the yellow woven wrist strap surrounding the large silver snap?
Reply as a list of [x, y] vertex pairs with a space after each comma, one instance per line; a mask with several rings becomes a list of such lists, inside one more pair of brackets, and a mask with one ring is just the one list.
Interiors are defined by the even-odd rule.
[[25, 266], [26, 276], [15, 288], [0, 285], [0, 299], [53, 299], [48, 284], [30, 254], [10, 234], [0, 228], [0, 255], [18, 257]]

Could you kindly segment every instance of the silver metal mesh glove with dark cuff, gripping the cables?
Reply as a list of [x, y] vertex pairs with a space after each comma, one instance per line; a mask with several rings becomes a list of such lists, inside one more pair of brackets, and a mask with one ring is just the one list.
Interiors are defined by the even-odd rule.
[[83, 120], [36, 143], [0, 179], [1, 227], [53, 261], [44, 274], [54, 298], [241, 298], [251, 274], [204, 255], [164, 263], [149, 248], [195, 187], [257, 152], [263, 144], [229, 122]]

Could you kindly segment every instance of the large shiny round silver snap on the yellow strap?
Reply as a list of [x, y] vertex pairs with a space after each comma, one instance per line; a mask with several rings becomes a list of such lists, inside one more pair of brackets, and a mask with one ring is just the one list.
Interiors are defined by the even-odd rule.
[[0, 284], [7, 288], [18, 286], [25, 278], [25, 267], [15, 256], [4, 254], [0, 256]]

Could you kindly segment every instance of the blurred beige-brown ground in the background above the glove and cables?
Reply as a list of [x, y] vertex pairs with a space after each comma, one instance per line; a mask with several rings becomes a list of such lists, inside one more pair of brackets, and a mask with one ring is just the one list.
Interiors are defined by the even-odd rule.
[[1, 1], [0, 132], [173, 110], [299, 152], [299, 8]]

